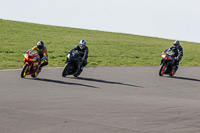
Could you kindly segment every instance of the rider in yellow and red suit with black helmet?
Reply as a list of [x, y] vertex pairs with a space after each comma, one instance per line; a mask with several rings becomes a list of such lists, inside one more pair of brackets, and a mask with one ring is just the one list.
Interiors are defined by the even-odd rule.
[[[44, 42], [43, 42], [43, 41], [39, 41], [39, 42], [37, 43], [37, 45], [34, 46], [31, 50], [37, 50], [37, 51], [38, 51], [38, 54], [39, 54], [39, 56], [40, 56], [40, 59], [42, 59], [43, 57], [47, 57], [47, 59], [44, 60], [44, 62], [40, 65], [40, 68], [39, 68], [39, 72], [40, 72], [43, 66], [48, 65], [47, 48], [44, 46]], [[40, 64], [40, 63], [41, 63], [41, 62], [39, 62], [39, 64]]]

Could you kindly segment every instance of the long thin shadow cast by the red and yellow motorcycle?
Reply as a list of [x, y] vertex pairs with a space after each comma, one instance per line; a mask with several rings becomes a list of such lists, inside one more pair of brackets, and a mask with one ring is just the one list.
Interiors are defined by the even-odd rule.
[[35, 79], [32, 78], [31, 80], [45, 81], [45, 82], [65, 84], [65, 85], [78, 85], [78, 86], [84, 86], [84, 87], [90, 87], [90, 88], [98, 88], [98, 87], [91, 86], [91, 85], [85, 85], [85, 84], [79, 84], [79, 83], [70, 83], [70, 82], [64, 82], [64, 81], [60, 81], [60, 80], [53, 80], [53, 79], [46, 79], [46, 78], [35, 78]]

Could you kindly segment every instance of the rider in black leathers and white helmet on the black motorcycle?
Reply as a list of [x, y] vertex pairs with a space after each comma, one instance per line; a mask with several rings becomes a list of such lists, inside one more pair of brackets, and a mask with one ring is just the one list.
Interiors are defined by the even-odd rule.
[[76, 50], [78, 51], [81, 57], [81, 62], [79, 62], [78, 69], [76, 73], [74, 74], [74, 76], [78, 76], [83, 71], [83, 67], [87, 65], [89, 50], [88, 50], [88, 47], [86, 46], [86, 40], [80, 40], [79, 44], [70, 50], [70, 53]]

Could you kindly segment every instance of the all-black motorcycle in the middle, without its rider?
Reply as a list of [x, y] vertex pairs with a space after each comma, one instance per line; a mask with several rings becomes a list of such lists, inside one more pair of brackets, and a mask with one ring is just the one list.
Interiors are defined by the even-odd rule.
[[78, 77], [82, 72], [81, 69], [77, 72], [79, 66], [81, 66], [81, 63], [81, 58], [78, 52], [72, 51], [67, 53], [67, 60], [62, 72], [62, 76], [66, 77], [67, 75], [73, 75], [74, 77]]

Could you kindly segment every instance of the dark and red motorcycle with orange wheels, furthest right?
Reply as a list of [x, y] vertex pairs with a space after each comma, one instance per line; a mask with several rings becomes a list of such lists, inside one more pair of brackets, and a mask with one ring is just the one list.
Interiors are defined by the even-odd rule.
[[159, 75], [163, 76], [164, 74], [169, 74], [170, 76], [173, 76], [177, 69], [173, 69], [175, 66], [174, 61], [174, 55], [175, 53], [169, 54], [167, 51], [162, 53], [162, 60], [161, 60], [161, 67], [159, 71]]

